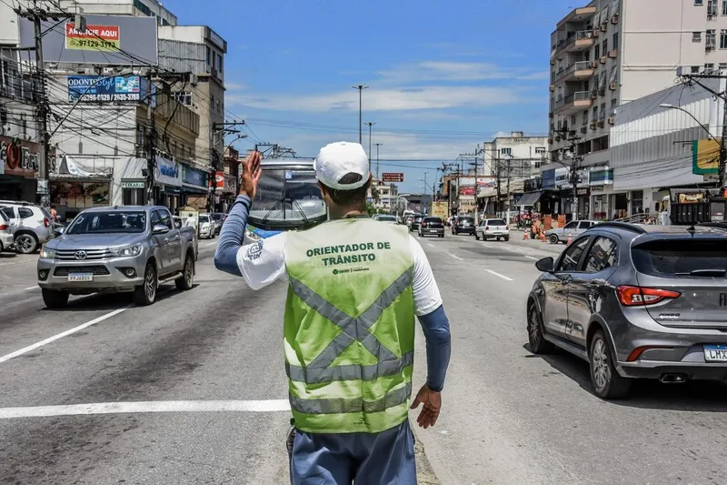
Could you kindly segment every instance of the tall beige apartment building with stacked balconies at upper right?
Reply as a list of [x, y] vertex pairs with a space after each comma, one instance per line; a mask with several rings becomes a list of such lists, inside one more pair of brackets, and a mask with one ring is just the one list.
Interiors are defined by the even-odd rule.
[[[558, 22], [550, 64], [549, 175], [568, 172], [573, 155], [608, 174], [618, 106], [674, 86], [679, 67], [727, 68], [727, 0], [593, 0]], [[587, 215], [590, 190], [568, 192], [564, 177], [543, 179], [551, 207]]]

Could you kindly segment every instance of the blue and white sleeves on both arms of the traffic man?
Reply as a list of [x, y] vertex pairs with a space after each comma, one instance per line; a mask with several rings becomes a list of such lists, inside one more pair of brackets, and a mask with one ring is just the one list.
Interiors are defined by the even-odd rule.
[[[214, 266], [217, 269], [238, 277], [243, 276], [243, 268], [241, 268], [241, 265], [245, 257], [248, 259], [255, 258], [257, 260], [257, 258], [261, 258], [264, 245], [267, 245], [266, 248], [268, 248], [275, 247], [277, 244], [276, 236], [274, 236], [265, 240], [264, 243], [261, 241], [244, 246], [244, 232], [245, 227], [247, 227], [247, 217], [251, 205], [252, 203], [249, 197], [237, 197], [233, 207], [230, 209], [230, 213], [224, 221], [224, 225], [220, 231], [217, 250], [214, 254]], [[264, 258], [264, 256], [262, 257]], [[260, 263], [259, 261], [257, 262]], [[254, 289], [263, 288], [275, 279], [284, 279], [286, 278], [284, 265], [279, 263], [280, 261], [271, 261], [270, 264], [263, 262], [262, 265], [265, 271], [263, 278], [252, 281], [249, 275], [247, 275], [245, 279], [248, 280], [248, 284]], [[428, 263], [423, 268], [423, 272], [427, 271], [428, 274], [424, 276], [431, 278], [430, 284], [434, 284], [431, 268]], [[414, 286], [414, 290], [416, 290], [416, 285]], [[452, 349], [449, 320], [444, 313], [443, 305], [433, 308], [431, 312], [420, 315], [418, 318], [422, 324], [424, 338], [426, 340], [427, 386], [429, 389], [439, 392], [444, 387], [444, 379], [449, 366]]]

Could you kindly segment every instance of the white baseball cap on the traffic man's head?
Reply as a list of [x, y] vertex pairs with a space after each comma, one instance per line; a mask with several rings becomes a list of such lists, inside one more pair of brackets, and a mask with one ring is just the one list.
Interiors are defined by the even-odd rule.
[[[326, 187], [353, 190], [363, 187], [369, 180], [369, 159], [360, 143], [339, 141], [321, 148], [314, 161], [315, 177]], [[353, 184], [341, 184], [348, 174], [358, 174], [361, 180]]]

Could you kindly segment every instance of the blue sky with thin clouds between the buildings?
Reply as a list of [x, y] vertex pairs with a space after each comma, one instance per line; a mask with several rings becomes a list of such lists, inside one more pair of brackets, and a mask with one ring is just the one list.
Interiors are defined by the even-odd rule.
[[[423, 171], [497, 133], [547, 132], [549, 42], [565, 0], [167, 0], [182, 25], [228, 44], [225, 106], [254, 140], [314, 157], [358, 140], [358, 93], [381, 171]], [[230, 117], [232, 117], [230, 115]], [[364, 126], [364, 147], [368, 131]], [[375, 159], [375, 147], [373, 149]]]

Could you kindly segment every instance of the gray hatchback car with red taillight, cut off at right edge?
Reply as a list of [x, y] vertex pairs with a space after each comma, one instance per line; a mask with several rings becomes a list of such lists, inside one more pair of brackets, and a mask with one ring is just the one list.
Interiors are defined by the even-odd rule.
[[726, 230], [608, 222], [535, 266], [530, 349], [587, 360], [599, 397], [634, 378], [727, 379]]

